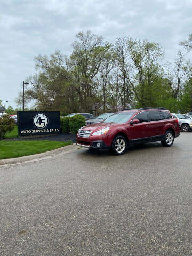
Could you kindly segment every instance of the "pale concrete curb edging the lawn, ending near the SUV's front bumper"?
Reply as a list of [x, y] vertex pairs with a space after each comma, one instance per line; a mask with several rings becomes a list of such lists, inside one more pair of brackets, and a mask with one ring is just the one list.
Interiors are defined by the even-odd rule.
[[59, 153], [67, 153], [68, 151], [75, 150], [75, 149], [77, 149], [77, 145], [73, 144], [73, 145], [57, 148], [51, 151], [46, 151], [40, 154], [35, 154], [30, 156], [21, 156], [16, 158], [9, 158], [9, 159], [1, 159], [0, 166], [4, 166], [6, 164], [19, 164], [19, 163], [28, 162], [28, 161], [37, 161], [44, 158], [56, 156]]

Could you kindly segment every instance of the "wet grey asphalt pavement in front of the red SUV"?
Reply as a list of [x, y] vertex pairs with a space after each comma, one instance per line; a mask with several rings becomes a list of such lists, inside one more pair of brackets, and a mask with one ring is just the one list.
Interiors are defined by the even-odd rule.
[[0, 167], [0, 255], [192, 255], [192, 132]]

